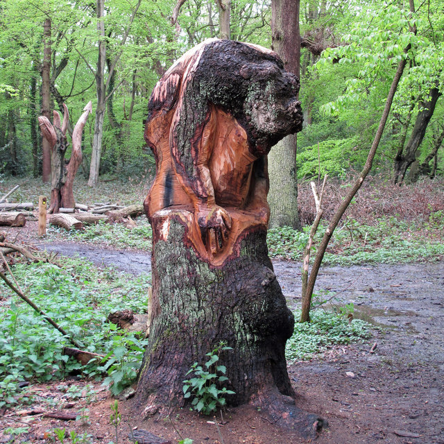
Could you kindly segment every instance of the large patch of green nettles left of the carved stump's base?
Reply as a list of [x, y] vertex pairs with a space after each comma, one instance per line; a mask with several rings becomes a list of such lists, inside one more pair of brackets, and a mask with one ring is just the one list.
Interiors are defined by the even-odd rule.
[[[98, 269], [63, 257], [63, 268], [49, 263], [16, 264], [12, 272], [24, 293], [68, 332], [83, 350], [106, 355], [103, 362], [81, 366], [62, 354], [72, 346], [42, 316], [0, 283], [0, 407], [23, 398], [23, 381], [62, 379], [69, 373], [103, 377], [118, 393], [133, 381], [145, 341], [108, 323], [110, 312], [146, 311], [149, 275], [139, 277]], [[22, 399], [23, 400], [23, 399]]]

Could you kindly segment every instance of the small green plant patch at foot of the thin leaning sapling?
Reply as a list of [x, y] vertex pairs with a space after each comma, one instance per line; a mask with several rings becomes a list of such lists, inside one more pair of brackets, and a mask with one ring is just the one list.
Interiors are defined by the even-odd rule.
[[[300, 310], [294, 312], [300, 318]], [[320, 355], [335, 344], [359, 342], [371, 336], [370, 325], [360, 319], [350, 319], [345, 312], [335, 313], [312, 309], [309, 323], [296, 322], [293, 336], [287, 341], [287, 361], [305, 361]]]

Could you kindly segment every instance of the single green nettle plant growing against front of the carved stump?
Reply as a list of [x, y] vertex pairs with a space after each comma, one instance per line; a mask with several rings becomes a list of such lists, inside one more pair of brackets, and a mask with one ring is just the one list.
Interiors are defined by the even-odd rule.
[[208, 357], [208, 361], [203, 366], [199, 366], [195, 362], [187, 372], [187, 375], [194, 373], [194, 377], [186, 379], [182, 387], [184, 398], [193, 397], [191, 401], [193, 409], [204, 415], [210, 415], [216, 411], [217, 407], [223, 407], [226, 395], [235, 394], [234, 391], [228, 390], [226, 387], [218, 388], [222, 382], [228, 381], [228, 377], [225, 376], [227, 368], [216, 365], [219, 361], [219, 352], [224, 350], [232, 350], [232, 348], [221, 341], [205, 355]]

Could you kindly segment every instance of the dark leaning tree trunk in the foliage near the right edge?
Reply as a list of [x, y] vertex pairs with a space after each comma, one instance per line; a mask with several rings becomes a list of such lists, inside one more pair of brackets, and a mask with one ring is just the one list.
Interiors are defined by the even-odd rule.
[[438, 88], [432, 88], [430, 90], [429, 98], [426, 102], [420, 103], [422, 110], [418, 112], [416, 116], [415, 126], [410, 135], [409, 142], [404, 148], [402, 153], [399, 153], [395, 157], [394, 166], [394, 182], [400, 183], [404, 180], [405, 173], [410, 165], [416, 160], [416, 153], [424, 138], [425, 131], [429, 125], [430, 119], [432, 119], [433, 113], [436, 108], [436, 102], [438, 101], [441, 92]]

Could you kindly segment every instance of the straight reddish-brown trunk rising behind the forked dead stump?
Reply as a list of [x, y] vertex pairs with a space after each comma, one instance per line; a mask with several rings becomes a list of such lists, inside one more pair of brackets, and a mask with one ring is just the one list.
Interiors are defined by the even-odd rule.
[[[51, 118], [51, 19], [43, 24], [43, 65], [42, 65], [42, 116]], [[42, 140], [42, 180], [51, 179], [51, 146], [46, 139]]]

